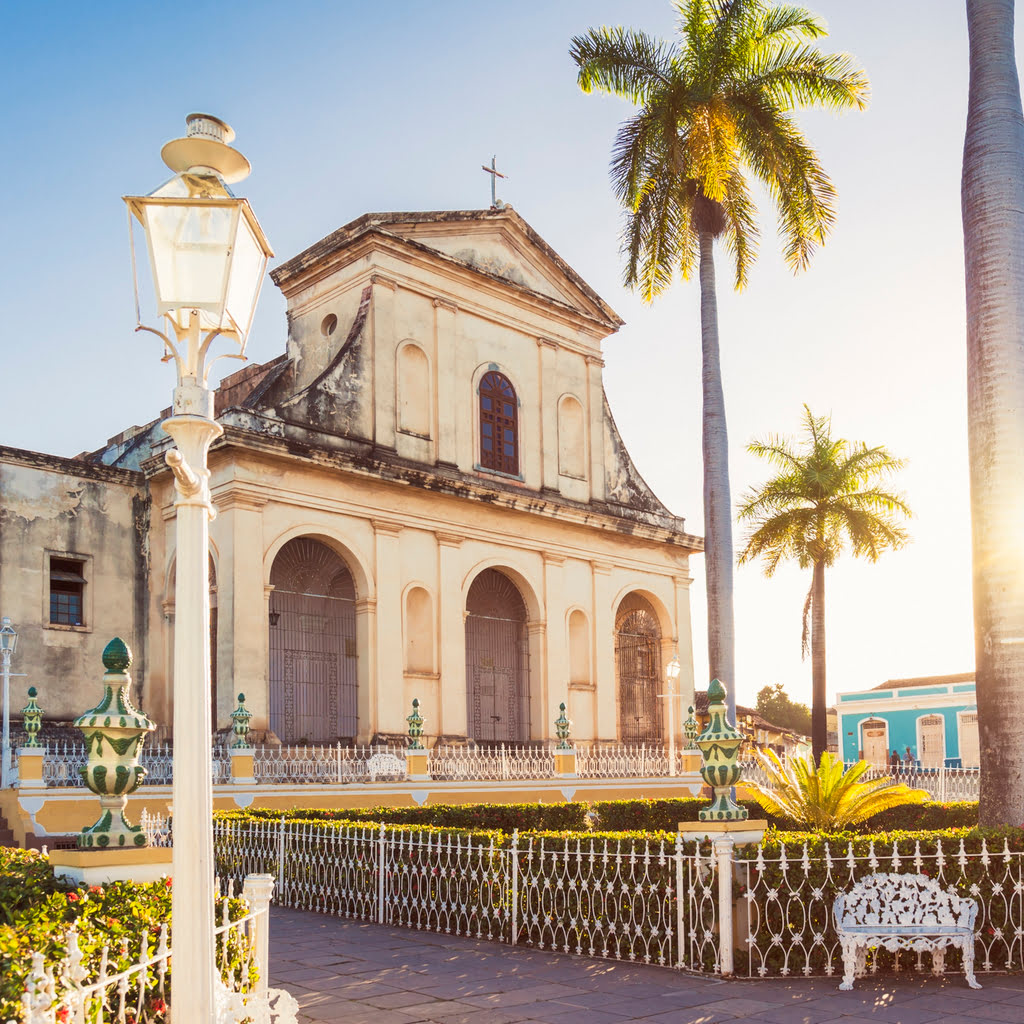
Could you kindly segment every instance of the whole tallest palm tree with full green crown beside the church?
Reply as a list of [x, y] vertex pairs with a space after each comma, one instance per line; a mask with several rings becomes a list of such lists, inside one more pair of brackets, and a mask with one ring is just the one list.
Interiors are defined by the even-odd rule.
[[698, 269], [702, 356], [705, 571], [711, 678], [727, 684], [735, 718], [732, 501], [719, 362], [714, 245], [725, 246], [737, 290], [757, 255], [749, 179], [778, 214], [786, 262], [807, 266], [835, 219], [836, 191], [792, 112], [863, 108], [867, 78], [846, 54], [812, 41], [823, 23], [767, 0], [674, 0], [679, 38], [591, 29], [570, 53], [584, 92], [639, 109], [618, 130], [611, 179], [626, 208], [626, 284], [651, 301]]

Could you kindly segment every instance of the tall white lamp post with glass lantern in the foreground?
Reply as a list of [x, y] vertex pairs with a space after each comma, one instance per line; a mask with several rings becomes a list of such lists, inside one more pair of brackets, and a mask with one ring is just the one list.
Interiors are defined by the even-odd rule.
[[[219, 336], [237, 347], [227, 354], [245, 358], [273, 253], [248, 202], [227, 187], [250, 170], [249, 161], [227, 144], [234, 132], [207, 114], [190, 114], [186, 123], [185, 137], [161, 151], [174, 176], [151, 195], [126, 196], [125, 202], [145, 233], [157, 312], [167, 323], [167, 333], [140, 322], [136, 331], [162, 338], [164, 359], [173, 359], [177, 371], [172, 415], [163, 423], [177, 445], [165, 456], [174, 474], [177, 520], [171, 1013], [174, 1024], [205, 1024], [215, 1019], [207, 564], [216, 513], [207, 456], [223, 432], [213, 418], [208, 353]], [[135, 285], [139, 318], [137, 279]]]

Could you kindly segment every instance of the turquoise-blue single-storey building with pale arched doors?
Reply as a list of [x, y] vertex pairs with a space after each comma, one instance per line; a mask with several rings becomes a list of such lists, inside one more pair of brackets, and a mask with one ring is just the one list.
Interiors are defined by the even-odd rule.
[[973, 768], [979, 761], [974, 673], [890, 679], [840, 693], [837, 725], [843, 760], [882, 765], [896, 751], [922, 768]]

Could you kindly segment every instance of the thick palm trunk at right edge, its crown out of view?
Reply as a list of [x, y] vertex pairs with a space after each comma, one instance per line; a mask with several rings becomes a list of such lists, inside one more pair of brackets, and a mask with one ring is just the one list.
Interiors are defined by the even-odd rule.
[[1013, 0], [967, 0], [961, 202], [982, 824], [1024, 821], [1024, 113]]

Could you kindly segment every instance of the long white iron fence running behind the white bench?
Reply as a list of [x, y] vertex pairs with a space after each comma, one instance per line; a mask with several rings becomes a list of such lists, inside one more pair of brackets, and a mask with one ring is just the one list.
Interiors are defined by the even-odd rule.
[[[712, 849], [680, 837], [509, 838], [262, 818], [214, 826], [217, 870], [273, 874], [287, 906], [750, 977], [842, 974], [836, 895], [876, 870], [927, 872], [978, 900], [978, 970], [1024, 971], [1024, 854], [1006, 843], [861, 847], [787, 854], [777, 845], [737, 851], [729, 840]], [[923, 969], [920, 955], [901, 955], [880, 951], [871, 969]], [[955, 957], [947, 964], [958, 968]]]

